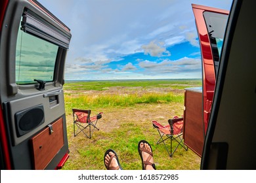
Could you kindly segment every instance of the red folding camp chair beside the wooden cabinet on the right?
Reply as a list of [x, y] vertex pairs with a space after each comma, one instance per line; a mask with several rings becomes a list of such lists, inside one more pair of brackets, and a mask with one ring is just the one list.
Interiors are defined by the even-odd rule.
[[[156, 144], [163, 142], [170, 157], [173, 156], [179, 146], [182, 146], [185, 150], [188, 150], [182, 139], [183, 118], [175, 116], [173, 119], [168, 120], [167, 125], [161, 125], [157, 121], [152, 121], [152, 124], [154, 128], [158, 129], [158, 133], [160, 135], [160, 139]], [[170, 150], [167, 147], [167, 144], [165, 144], [165, 141], [167, 140], [170, 140]], [[173, 141], [177, 142], [177, 144], [173, 144]], [[174, 150], [173, 145], [176, 145]]]

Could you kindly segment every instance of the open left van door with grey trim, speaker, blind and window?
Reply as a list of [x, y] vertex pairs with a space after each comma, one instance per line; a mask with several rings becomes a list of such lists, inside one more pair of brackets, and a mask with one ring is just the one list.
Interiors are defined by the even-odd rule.
[[0, 5], [1, 169], [60, 169], [69, 156], [62, 85], [70, 29], [35, 0]]

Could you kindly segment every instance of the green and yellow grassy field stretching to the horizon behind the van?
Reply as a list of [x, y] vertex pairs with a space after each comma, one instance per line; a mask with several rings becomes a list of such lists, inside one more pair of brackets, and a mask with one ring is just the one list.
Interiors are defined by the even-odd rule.
[[[114, 149], [123, 169], [141, 169], [137, 151], [142, 139], [150, 142], [157, 169], [200, 169], [200, 158], [179, 148], [170, 158], [152, 120], [167, 124], [181, 116], [184, 88], [202, 86], [201, 80], [108, 80], [66, 82], [64, 97], [70, 158], [64, 169], [104, 170], [104, 152]], [[80, 133], [74, 137], [72, 108], [104, 112], [92, 139]]]

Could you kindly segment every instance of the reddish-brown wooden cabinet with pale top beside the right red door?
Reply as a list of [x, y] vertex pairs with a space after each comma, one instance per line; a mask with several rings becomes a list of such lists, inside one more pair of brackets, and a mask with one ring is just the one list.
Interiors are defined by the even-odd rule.
[[184, 95], [184, 144], [201, 157], [204, 141], [202, 88], [186, 88]]

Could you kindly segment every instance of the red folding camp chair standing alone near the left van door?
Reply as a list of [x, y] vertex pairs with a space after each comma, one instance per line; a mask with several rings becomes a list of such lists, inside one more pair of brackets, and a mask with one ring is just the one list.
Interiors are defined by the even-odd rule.
[[95, 129], [98, 129], [98, 127], [96, 127], [96, 124], [98, 120], [102, 118], [103, 112], [98, 113], [96, 116], [90, 117], [91, 110], [81, 110], [72, 108], [72, 111], [74, 118], [74, 136], [83, 132], [86, 135], [86, 137], [91, 139], [93, 131]]

